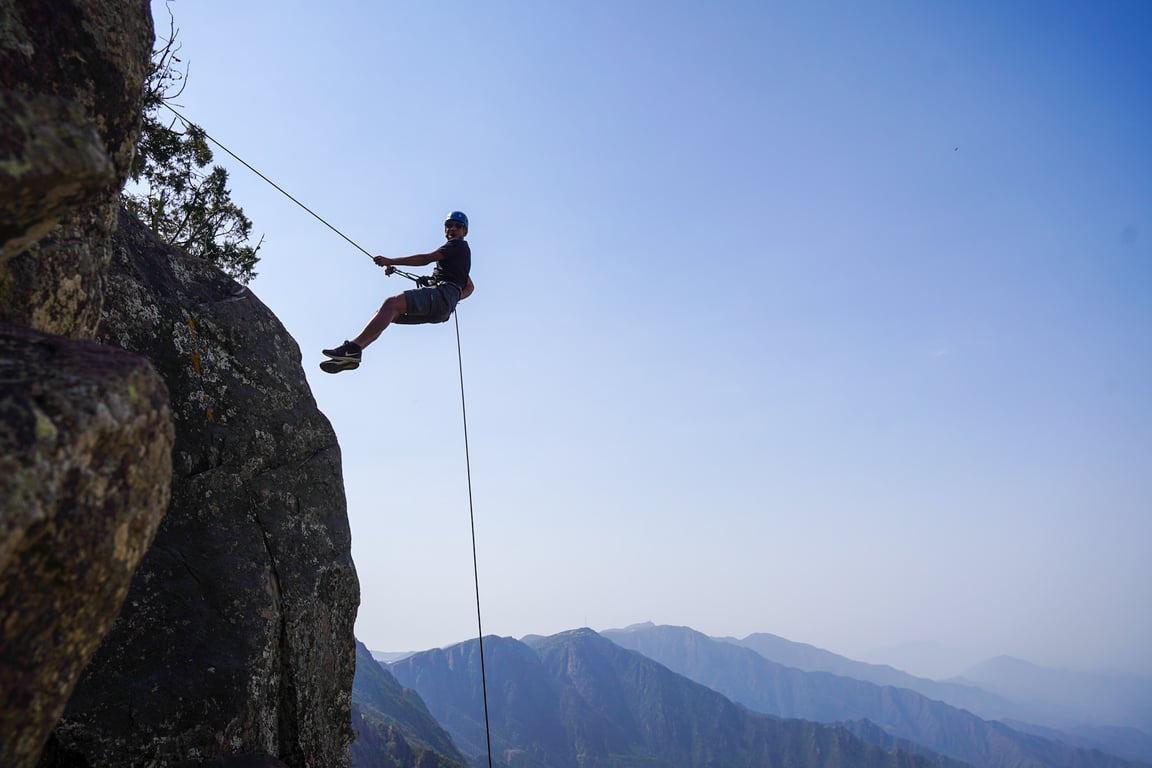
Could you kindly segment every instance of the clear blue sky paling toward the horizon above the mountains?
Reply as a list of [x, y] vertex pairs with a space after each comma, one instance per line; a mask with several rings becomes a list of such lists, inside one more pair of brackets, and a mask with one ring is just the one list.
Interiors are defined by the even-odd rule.
[[[356, 243], [471, 218], [486, 633], [1152, 674], [1152, 3], [169, 7], [184, 113]], [[410, 283], [217, 154], [340, 438], [358, 637], [475, 636], [454, 325], [321, 373]]]

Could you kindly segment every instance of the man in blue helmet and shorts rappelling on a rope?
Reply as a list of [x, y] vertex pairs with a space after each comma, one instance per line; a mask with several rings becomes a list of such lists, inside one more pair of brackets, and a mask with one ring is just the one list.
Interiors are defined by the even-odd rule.
[[[452, 317], [456, 303], [471, 296], [475, 286], [469, 272], [472, 268], [472, 251], [464, 237], [468, 236], [468, 216], [453, 211], [445, 218], [444, 236], [447, 242], [431, 253], [417, 253], [397, 259], [385, 256], [373, 257], [377, 266], [386, 267], [385, 274], [393, 274], [396, 267], [423, 267], [435, 264], [432, 275], [419, 277], [417, 287], [385, 299], [359, 335], [335, 349], [321, 350], [329, 358], [320, 363], [325, 373], [354, 371], [359, 367], [364, 348], [380, 337], [393, 322], [419, 325], [445, 322]], [[402, 273], [403, 274], [403, 273]]]

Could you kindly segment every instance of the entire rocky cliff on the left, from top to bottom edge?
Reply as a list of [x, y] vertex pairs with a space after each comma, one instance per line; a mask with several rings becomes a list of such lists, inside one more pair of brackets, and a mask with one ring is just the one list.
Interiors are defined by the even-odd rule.
[[0, 0], [0, 765], [339, 768], [339, 447], [267, 307], [120, 213], [151, 43]]

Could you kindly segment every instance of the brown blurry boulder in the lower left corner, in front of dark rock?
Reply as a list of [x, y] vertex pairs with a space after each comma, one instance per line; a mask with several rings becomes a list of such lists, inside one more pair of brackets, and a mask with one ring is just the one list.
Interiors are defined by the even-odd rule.
[[0, 326], [0, 766], [32, 766], [168, 503], [147, 360]]

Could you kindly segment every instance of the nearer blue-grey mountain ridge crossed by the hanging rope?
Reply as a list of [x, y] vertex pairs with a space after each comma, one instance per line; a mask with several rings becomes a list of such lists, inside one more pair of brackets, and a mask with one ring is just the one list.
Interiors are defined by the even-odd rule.
[[[927, 768], [844, 728], [758, 715], [591, 630], [484, 638], [494, 762], [510, 768]], [[391, 666], [473, 763], [486, 754], [479, 644]], [[949, 768], [957, 763], [945, 761]]]

